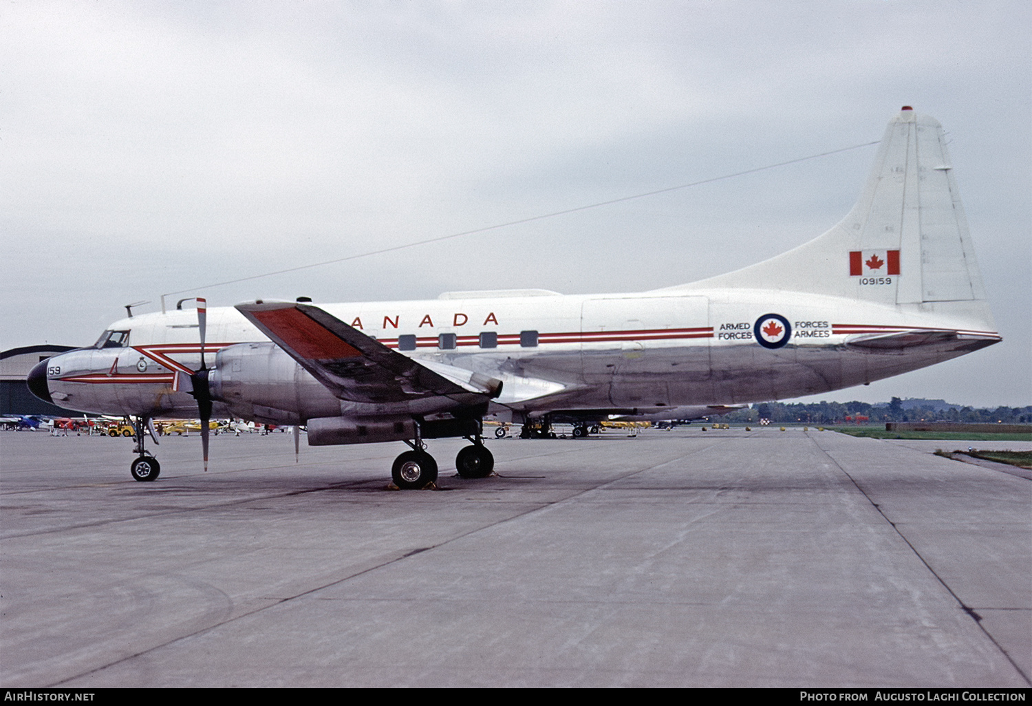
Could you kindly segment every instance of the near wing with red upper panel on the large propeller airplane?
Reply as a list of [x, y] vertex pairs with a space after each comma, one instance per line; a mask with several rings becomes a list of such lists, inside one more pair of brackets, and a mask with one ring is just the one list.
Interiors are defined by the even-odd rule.
[[268, 302], [236, 309], [340, 399], [390, 404], [447, 397], [479, 405], [502, 391], [498, 380], [416, 361], [318, 307]]

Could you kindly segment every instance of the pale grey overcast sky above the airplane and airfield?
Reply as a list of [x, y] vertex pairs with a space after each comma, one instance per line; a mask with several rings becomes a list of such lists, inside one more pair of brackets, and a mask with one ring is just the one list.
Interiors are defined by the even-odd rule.
[[[834, 225], [937, 118], [1004, 342], [817, 399], [1032, 404], [1032, 11], [1006, 2], [46, 2], [0, 6], [0, 348], [123, 304], [654, 289]], [[184, 296], [179, 294], [178, 296]], [[173, 299], [175, 297], [172, 297]]]

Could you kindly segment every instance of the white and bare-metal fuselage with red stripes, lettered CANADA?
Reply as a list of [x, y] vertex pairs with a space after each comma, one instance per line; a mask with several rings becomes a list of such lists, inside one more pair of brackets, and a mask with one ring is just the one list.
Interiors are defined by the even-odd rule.
[[[760, 289], [443, 296], [321, 308], [417, 360], [501, 380], [502, 393], [488, 413], [517, 418], [555, 410], [644, 413], [813, 394], [912, 371], [999, 340], [995, 332], [973, 330], [977, 322], [963, 317]], [[766, 320], [772, 334], [762, 338], [774, 343], [765, 346], [756, 336], [770, 315], [776, 316]], [[787, 323], [787, 335], [778, 330], [779, 321]], [[957, 335], [912, 347], [849, 345], [931, 329]], [[200, 365], [195, 312], [139, 315], [112, 323], [110, 330], [129, 331], [128, 346], [83, 349], [53, 360], [47, 380], [54, 400], [103, 414], [192, 415], [193, 397], [172, 387], [176, 370]], [[217, 416], [296, 423], [377, 413], [334, 397], [235, 309], [207, 311], [206, 340]]]

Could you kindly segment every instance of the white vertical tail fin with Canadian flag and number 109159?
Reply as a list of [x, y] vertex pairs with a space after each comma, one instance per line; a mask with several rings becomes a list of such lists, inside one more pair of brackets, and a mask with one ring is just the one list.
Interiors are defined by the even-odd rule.
[[992, 327], [988, 307], [973, 303], [983, 302], [986, 293], [942, 126], [908, 106], [889, 123], [848, 216], [787, 253], [675, 289], [710, 287], [922, 304], [977, 313]]

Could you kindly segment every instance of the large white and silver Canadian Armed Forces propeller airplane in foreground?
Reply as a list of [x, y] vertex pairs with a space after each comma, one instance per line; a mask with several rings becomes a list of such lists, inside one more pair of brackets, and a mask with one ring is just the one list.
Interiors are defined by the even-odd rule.
[[[742, 269], [631, 294], [467, 291], [426, 301], [256, 301], [137, 314], [38, 363], [28, 385], [82, 412], [137, 417], [131, 466], [160, 464], [153, 420], [308, 427], [312, 446], [404, 442], [393, 483], [428, 487], [426, 440], [465, 438], [459, 476], [491, 473], [484, 419], [651, 415], [828, 392], [1000, 342], [942, 128], [890, 121], [860, 200], [823, 235]], [[208, 339], [211, 336], [211, 339]], [[215, 343], [206, 343], [212, 340]], [[582, 422], [583, 423], [583, 422]]]

